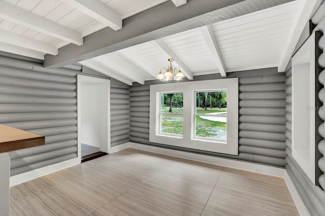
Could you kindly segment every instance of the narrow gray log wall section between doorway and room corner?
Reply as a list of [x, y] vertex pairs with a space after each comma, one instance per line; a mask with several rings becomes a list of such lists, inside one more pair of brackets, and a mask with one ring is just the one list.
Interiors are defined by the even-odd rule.
[[129, 141], [129, 85], [111, 78], [111, 147]]

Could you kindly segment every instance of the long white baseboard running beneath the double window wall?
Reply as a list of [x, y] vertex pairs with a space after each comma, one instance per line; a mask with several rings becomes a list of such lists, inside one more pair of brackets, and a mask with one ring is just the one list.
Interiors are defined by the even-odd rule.
[[[139, 144], [139, 143], [135, 143], [135, 142], [129, 142], [129, 147], [147, 151], [147, 152], [154, 152], [154, 153], [159, 153], [159, 154], [163, 154], [163, 155], [169, 155], [169, 156], [174, 156], [174, 157], [178, 157], [178, 158], [190, 159], [190, 160], [194, 160], [194, 161], [200, 161], [200, 162], [215, 164], [215, 165], [219, 165], [219, 166], [241, 169], [241, 170], [246, 170], [246, 171], [250, 171], [250, 172], [273, 175], [273, 176], [282, 177], [282, 178], [284, 177], [284, 173], [285, 173], [285, 169], [283, 169], [283, 168], [266, 166], [266, 165], [261, 165], [261, 164], [254, 164], [254, 163], [226, 159], [226, 158], [211, 157], [208, 155], [183, 152], [183, 151], [177, 151], [177, 150], [172, 150], [172, 149], [159, 148], [159, 147], [143, 145], [143, 144]], [[259, 169], [262, 172], [259, 172], [259, 171], [257, 172], [257, 171], [255, 171], [256, 169]]]

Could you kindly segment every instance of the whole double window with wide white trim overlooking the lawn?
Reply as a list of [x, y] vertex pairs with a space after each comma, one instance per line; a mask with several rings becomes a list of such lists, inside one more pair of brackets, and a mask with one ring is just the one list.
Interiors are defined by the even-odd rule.
[[151, 85], [149, 141], [238, 155], [238, 78]]

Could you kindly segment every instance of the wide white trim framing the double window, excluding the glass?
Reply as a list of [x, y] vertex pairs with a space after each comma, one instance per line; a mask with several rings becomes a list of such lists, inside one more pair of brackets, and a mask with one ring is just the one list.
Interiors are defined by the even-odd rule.
[[[227, 141], [194, 138], [194, 92], [227, 90]], [[183, 92], [183, 137], [159, 134], [161, 92]], [[149, 141], [170, 146], [238, 155], [238, 78], [150, 86]]]

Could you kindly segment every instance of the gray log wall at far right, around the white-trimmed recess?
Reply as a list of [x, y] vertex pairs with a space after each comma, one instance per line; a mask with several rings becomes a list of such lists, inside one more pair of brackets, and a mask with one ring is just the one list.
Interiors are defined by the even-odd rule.
[[[324, 25], [323, 23], [325, 23], [325, 11], [324, 10], [318, 10], [316, 11], [316, 13], [313, 15], [312, 17], [312, 22], [313, 24], [317, 25], [316, 28], [314, 30], [321, 30], [323, 32], [324, 29]], [[309, 27], [309, 26], [307, 26]], [[304, 38], [305, 40], [306, 38]], [[303, 41], [303, 40], [301, 40]], [[299, 46], [299, 45], [298, 45]], [[325, 47], [325, 37], [322, 36], [322, 38], [320, 39], [320, 43], [319, 43], [319, 47], [321, 48], [321, 50], [324, 49]], [[318, 60], [318, 63], [320, 64], [321, 67], [325, 67], [325, 63], [324, 63], [324, 54], [322, 54]], [[288, 165], [285, 167], [289, 176], [291, 177], [291, 179], [293, 180], [299, 195], [301, 196], [301, 198], [303, 199], [309, 213], [311, 215], [325, 215], [325, 192], [322, 189], [325, 189], [325, 182], [324, 182], [324, 174], [322, 173], [318, 179], [318, 182], [320, 184], [321, 187], [318, 186], [314, 186], [313, 183], [310, 181], [309, 177], [305, 174], [305, 172], [302, 170], [302, 168], [298, 165], [298, 163], [295, 161], [295, 159], [292, 156], [291, 153], [291, 68], [289, 68], [286, 71], [286, 84], [287, 84], [287, 88], [286, 88], [286, 93], [288, 94], [288, 96], [286, 97], [286, 101], [287, 101], [287, 106], [286, 106], [286, 110], [287, 110], [287, 115], [286, 115], [286, 119], [287, 119], [287, 123], [286, 123], [286, 137], [287, 140], [285, 141], [286, 145], [287, 145], [287, 149], [286, 149], [286, 153], [287, 153], [287, 158], [286, 158], [286, 162], [288, 163]], [[319, 82], [324, 85], [324, 79], [325, 78], [325, 71], [323, 70], [319, 77], [318, 80]], [[319, 99], [324, 102], [324, 98], [325, 98], [325, 89], [322, 88], [318, 94]], [[322, 120], [325, 120], [325, 112], [324, 112], [324, 107], [319, 107], [319, 117]], [[322, 123], [320, 125], [320, 127], [318, 128], [319, 134], [322, 137], [325, 137], [324, 135], [324, 123]], [[324, 152], [325, 152], [325, 139], [322, 139], [319, 143], [318, 143], [318, 150], [320, 151], [322, 157], [318, 160], [318, 166], [320, 168], [320, 170], [322, 172], [325, 172], [325, 161], [324, 161]]]

